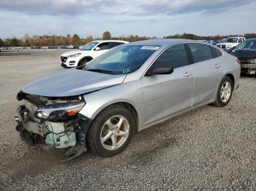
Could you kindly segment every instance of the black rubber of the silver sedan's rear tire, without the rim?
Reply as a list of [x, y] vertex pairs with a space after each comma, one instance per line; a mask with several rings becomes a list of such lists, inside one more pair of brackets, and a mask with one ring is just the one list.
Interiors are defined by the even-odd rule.
[[[230, 92], [230, 96], [227, 99], [227, 101], [223, 101], [222, 100], [222, 96], [221, 96], [221, 90], [222, 90], [222, 86], [229, 83], [230, 84], [230, 88], [231, 88], [231, 92]], [[233, 94], [233, 82], [230, 79], [230, 77], [224, 77], [222, 79], [222, 81], [219, 83], [219, 87], [218, 87], [218, 91], [217, 91], [217, 95], [216, 95], [216, 100], [214, 101], [214, 103], [212, 103], [214, 106], [226, 106], [229, 102], [230, 102], [230, 98], [232, 97]]]

